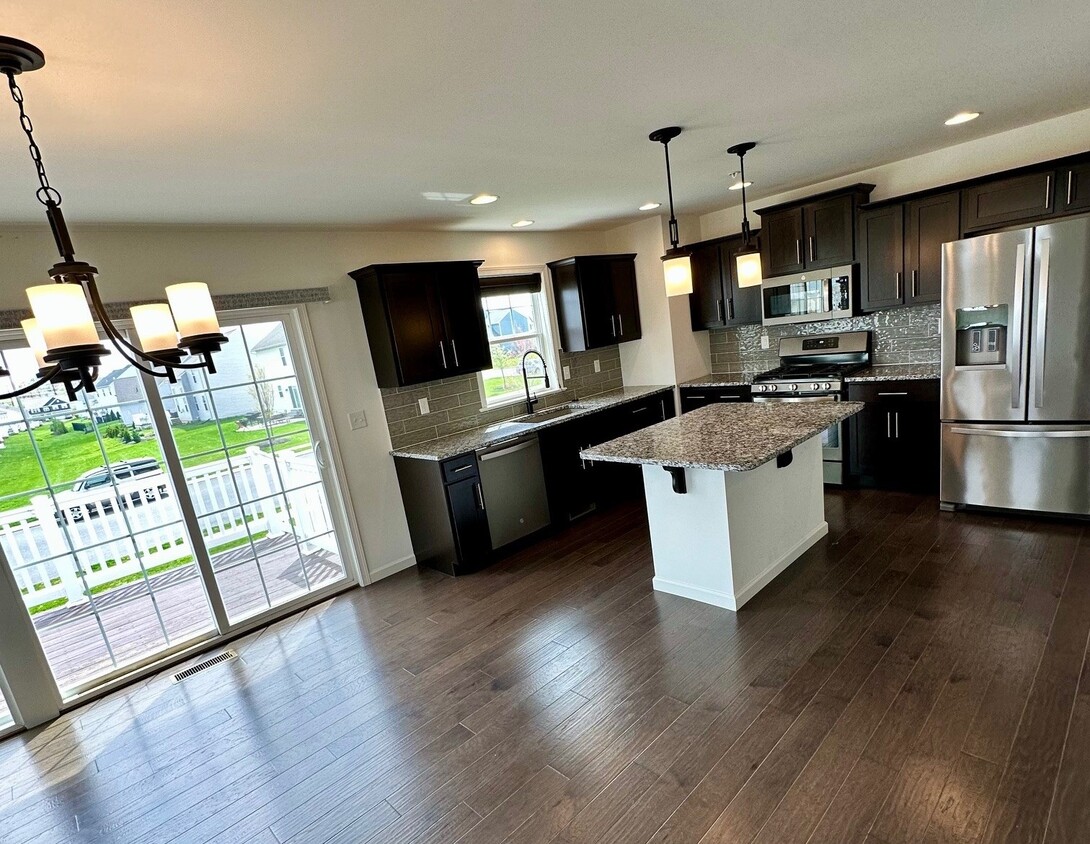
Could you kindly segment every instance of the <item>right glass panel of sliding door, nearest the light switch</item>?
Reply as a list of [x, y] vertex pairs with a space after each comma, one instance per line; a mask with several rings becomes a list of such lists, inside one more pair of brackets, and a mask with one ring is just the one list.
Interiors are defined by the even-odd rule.
[[225, 326], [216, 373], [160, 385], [231, 622], [346, 579], [292, 335]]

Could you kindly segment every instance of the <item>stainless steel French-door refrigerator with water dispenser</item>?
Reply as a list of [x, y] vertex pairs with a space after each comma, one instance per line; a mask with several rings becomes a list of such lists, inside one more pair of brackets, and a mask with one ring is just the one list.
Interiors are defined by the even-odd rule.
[[943, 507], [1090, 516], [1090, 218], [943, 249]]

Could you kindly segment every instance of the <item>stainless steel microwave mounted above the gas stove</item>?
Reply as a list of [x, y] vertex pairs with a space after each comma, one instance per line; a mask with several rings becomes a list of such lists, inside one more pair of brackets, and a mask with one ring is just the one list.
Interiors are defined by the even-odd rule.
[[816, 323], [856, 315], [856, 265], [815, 269], [761, 282], [764, 325]]

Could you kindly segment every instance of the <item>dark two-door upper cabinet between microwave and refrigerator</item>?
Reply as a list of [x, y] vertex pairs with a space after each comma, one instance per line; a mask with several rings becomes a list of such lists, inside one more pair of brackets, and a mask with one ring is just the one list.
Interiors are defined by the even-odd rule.
[[943, 193], [859, 213], [863, 311], [937, 302], [943, 243], [957, 240], [958, 194]]

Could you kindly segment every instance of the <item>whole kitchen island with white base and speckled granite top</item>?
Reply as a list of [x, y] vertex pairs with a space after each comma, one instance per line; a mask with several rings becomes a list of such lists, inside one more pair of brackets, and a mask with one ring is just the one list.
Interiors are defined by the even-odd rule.
[[655, 589], [738, 610], [828, 532], [821, 432], [862, 409], [711, 405], [580, 456], [642, 465]]

